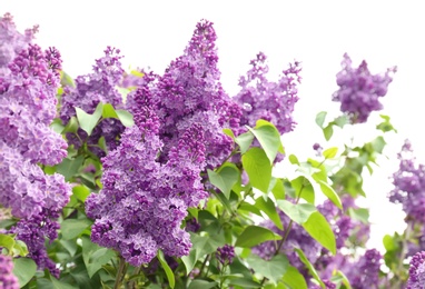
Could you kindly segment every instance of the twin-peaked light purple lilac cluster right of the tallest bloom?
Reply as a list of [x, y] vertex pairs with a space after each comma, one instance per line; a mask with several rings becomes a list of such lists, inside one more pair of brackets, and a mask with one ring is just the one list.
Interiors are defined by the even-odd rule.
[[264, 119], [274, 123], [280, 134], [293, 131], [296, 124], [293, 111], [298, 101], [300, 63], [290, 63], [277, 82], [266, 78], [268, 67], [263, 52], [258, 53], [250, 64], [253, 68], [239, 80], [240, 92], [234, 97], [243, 108], [240, 124], [255, 127], [258, 119]]

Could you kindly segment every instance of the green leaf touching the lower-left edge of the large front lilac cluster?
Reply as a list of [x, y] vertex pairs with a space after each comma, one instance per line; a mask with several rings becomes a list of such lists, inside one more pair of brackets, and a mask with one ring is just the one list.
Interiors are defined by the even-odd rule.
[[105, 263], [109, 262], [109, 260], [116, 256], [116, 252], [91, 242], [87, 236], [82, 236], [81, 240], [82, 260], [85, 261], [87, 273], [91, 278]]

